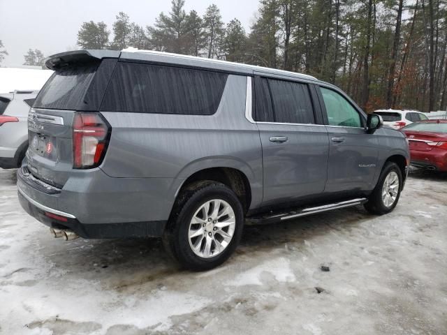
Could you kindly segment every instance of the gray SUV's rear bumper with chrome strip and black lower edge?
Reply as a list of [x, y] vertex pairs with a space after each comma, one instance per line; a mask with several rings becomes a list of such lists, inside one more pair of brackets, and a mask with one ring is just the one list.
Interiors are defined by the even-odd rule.
[[[45, 225], [69, 228], [84, 238], [163, 234], [172, 208], [170, 200], [175, 198], [170, 194], [172, 179], [118, 179], [99, 169], [89, 174], [90, 178], [69, 179], [64, 188], [58, 189], [36, 180], [26, 168], [21, 168], [17, 170], [20, 204]], [[64, 216], [66, 222], [49, 218], [45, 212]]]

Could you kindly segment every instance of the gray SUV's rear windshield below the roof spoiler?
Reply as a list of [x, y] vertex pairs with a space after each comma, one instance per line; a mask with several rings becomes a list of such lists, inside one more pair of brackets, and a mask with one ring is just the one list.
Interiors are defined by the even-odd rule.
[[75, 64], [57, 70], [38, 94], [34, 107], [75, 110], [81, 105], [98, 64]]

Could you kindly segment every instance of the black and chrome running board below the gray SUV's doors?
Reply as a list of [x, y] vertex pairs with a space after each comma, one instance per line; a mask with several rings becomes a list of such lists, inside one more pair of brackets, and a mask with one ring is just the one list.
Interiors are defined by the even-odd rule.
[[346, 207], [357, 206], [358, 204], [364, 204], [367, 202], [367, 198], [357, 198], [342, 202], [335, 202], [333, 204], [323, 204], [322, 206], [317, 207], [308, 207], [297, 209], [293, 211], [288, 211], [286, 213], [269, 213], [264, 214], [262, 216], [252, 216], [247, 218], [247, 224], [259, 225], [259, 224], [268, 224], [268, 223], [276, 223], [286, 220], [291, 220], [292, 218], [300, 218], [301, 216], [308, 216], [312, 214], [322, 213], [323, 211], [332, 211], [332, 209], [342, 209]]

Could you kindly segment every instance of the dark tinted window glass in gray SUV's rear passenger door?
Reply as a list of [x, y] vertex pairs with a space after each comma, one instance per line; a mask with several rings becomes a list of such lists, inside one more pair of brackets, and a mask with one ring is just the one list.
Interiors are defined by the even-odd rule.
[[314, 124], [314, 110], [307, 84], [268, 80], [275, 122]]

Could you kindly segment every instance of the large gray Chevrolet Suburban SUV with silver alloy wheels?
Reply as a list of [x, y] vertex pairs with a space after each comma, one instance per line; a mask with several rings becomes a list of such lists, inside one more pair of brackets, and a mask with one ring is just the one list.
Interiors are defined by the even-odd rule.
[[409, 149], [337, 87], [152, 51], [55, 54], [29, 113], [22, 207], [55, 237], [162, 237], [204, 270], [245, 224], [394, 209]]

